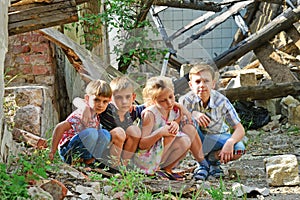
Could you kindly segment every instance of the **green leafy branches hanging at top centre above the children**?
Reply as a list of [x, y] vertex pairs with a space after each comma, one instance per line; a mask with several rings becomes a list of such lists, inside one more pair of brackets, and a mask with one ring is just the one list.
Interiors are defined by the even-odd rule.
[[107, 27], [108, 32], [116, 31], [113, 39], [117, 44], [112, 51], [118, 57], [119, 68], [126, 68], [130, 64], [137, 67], [146, 60], [157, 60], [158, 56], [162, 57], [167, 52], [167, 49], [155, 47], [149, 39], [149, 33], [158, 34], [149, 20], [137, 20], [141, 5], [136, 0], [106, 0], [102, 13], [84, 14], [79, 18], [79, 23], [73, 26], [76, 25], [76, 29], [83, 28], [85, 45], [89, 50], [101, 39], [101, 31], [98, 30], [102, 26]]

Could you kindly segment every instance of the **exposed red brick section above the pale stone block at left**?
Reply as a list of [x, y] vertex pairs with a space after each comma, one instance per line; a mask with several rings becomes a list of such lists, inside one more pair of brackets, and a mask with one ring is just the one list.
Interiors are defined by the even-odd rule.
[[9, 37], [5, 70], [18, 75], [10, 86], [54, 85], [55, 60], [50, 41], [38, 32]]

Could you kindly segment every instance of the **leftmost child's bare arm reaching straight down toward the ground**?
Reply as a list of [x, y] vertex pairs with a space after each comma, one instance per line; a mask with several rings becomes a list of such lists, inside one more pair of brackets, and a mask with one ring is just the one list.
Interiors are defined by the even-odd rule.
[[56, 125], [56, 127], [53, 131], [51, 151], [49, 153], [49, 159], [50, 160], [53, 160], [54, 155], [57, 151], [59, 141], [61, 140], [64, 132], [71, 129], [71, 128], [72, 128], [71, 124], [68, 121], [63, 121], [63, 122], [60, 122], [59, 124]]

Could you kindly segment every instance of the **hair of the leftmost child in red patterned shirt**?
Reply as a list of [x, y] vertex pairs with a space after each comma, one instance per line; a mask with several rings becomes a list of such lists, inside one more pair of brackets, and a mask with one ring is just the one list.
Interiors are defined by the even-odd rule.
[[93, 80], [86, 86], [85, 92], [87, 95], [96, 95], [103, 97], [111, 97], [112, 90], [109, 84], [103, 80]]

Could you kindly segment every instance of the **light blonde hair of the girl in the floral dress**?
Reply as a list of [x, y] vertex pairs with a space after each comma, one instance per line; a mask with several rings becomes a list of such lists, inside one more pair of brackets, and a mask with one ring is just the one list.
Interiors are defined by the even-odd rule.
[[165, 88], [169, 88], [174, 91], [174, 85], [171, 78], [155, 76], [148, 79], [145, 88], [143, 89], [144, 103], [152, 104]]

